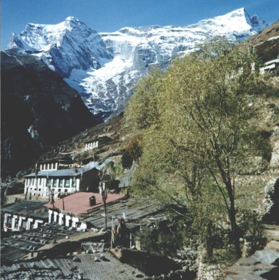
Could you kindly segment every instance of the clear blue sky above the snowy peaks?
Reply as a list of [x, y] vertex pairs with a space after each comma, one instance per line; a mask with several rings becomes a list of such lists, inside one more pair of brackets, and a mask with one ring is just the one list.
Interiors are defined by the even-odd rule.
[[278, 0], [2, 0], [1, 49], [12, 32], [26, 23], [58, 23], [68, 16], [85, 22], [97, 32], [124, 26], [188, 25], [244, 7], [268, 24], [279, 16]]

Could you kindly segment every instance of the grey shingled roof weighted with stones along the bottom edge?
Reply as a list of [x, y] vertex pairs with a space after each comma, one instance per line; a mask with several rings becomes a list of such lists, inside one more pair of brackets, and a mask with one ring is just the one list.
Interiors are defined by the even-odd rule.
[[[1, 279], [136, 279], [136, 274], [145, 274], [138, 269], [121, 263], [110, 253], [79, 254], [42, 260], [18, 261], [3, 264]], [[94, 258], [98, 258], [98, 262]]]

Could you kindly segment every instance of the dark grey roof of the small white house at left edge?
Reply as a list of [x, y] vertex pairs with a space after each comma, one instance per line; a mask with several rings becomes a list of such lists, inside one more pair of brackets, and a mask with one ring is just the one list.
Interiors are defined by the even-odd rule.
[[[36, 209], [44, 208], [45, 202], [22, 200], [7, 206], [1, 207], [1, 213], [20, 213], [31, 212]], [[33, 212], [35, 213], [35, 212]]]

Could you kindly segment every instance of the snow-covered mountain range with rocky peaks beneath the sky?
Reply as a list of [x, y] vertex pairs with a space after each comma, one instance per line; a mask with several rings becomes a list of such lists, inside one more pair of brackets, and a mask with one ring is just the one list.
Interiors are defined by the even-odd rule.
[[124, 27], [100, 33], [73, 17], [56, 25], [27, 24], [8, 48], [33, 53], [75, 88], [94, 114], [104, 118], [124, 107], [133, 82], [150, 65], [165, 67], [177, 55], [216, 35], [244, 40], [267, 26], [244, 8], [188, 26]]

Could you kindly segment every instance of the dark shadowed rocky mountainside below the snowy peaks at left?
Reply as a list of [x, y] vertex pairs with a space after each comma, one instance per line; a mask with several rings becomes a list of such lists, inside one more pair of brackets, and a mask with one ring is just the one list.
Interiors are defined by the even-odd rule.
[[1, 52], [1, 173], [14, 175], [51, 146], [99, 123], [79, 94], [45, 63]]

